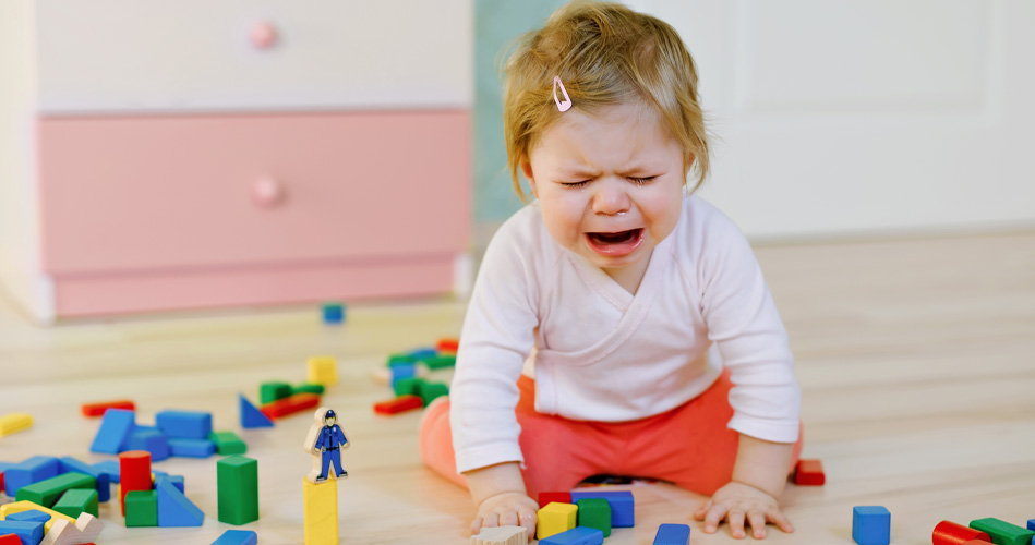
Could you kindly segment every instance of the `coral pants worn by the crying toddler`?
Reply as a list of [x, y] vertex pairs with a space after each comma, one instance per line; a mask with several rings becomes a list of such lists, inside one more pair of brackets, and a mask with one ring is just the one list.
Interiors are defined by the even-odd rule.
[[[732, 386], [723, 372], [707, 391], [669, 412], [631, 422], [583, 422], [535, 412], [535, 382], [521, 376], [515, 412], [528, 495], [567, 491], [597, 474], [660, 479], [713, 494], [730, 482], [736, 461], [739, 434], [726, 427], [733, 417]], [[467, 487], [456, 472], [448, 401], [432, 404], [424, 414], [420, 449], [429, 468]], [[792, 468], [801, 452], [799, 433]]]

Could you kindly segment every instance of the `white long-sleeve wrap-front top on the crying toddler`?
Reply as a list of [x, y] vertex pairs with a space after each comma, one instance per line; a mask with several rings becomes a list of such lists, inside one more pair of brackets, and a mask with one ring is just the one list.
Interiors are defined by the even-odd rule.
[[[721, 363], [708, 358], [712, 343]], [[761, 269], [736, 226], [696, 196], [684, 198], [635, 295], [557, 244], [538, 205], [500, 228], [474, 282], [450, 388], [458, 472], [523, 462], [514, 409], [530, 355], [542, 413], [652, 416], [708, 389], [725, 365], [729, 427], [797, 439], [801, 390]]]

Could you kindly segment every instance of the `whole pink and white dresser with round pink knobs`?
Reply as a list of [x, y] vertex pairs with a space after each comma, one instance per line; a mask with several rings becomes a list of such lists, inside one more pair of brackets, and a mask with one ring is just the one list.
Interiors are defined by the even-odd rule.
[[5, 291], [41, 320], [450, 292], [470, 17], [468, 0], [5, 4], [0, 39], [22, 47], [0, 69], [32, 77], [0, 102], [25, 162], [0, 167]]

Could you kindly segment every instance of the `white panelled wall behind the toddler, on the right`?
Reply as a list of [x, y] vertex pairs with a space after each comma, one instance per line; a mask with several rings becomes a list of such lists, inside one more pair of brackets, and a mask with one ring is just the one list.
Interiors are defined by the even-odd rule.
[[638, 0], [699, 64], [755, 240], [1035, 227], [1035, 3]]

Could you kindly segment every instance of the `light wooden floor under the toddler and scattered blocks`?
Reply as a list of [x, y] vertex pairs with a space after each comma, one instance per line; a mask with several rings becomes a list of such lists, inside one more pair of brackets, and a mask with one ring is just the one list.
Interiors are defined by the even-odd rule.
[[[766, 270], [797, 359], [805, 456], [820, 458], [822, 487], [789, 486], [797, 532], [770, 543], [849, 544], [852, 507], [892, 513], [892, 543], [930, 543], [935, 524], [1035, 519], [1035, 233], [765, 246]], [[0, 438], [0, 460], [71, 455], [88, 461], [97, 422], [85, 401], [132, 398], [139, 420], [157, 411], [210, 411], [240, 431], [237, 392], [266, 380], [301, 382], [309, 355], [338, 356], [341, 383], [325, 398], [353, 441], [339, 486], [341, 543], [462, 544], [472, 516], [465, 491], [420, 464], [420, 415], [375, 416], [389, 396], [371, 371], [389, 352], [458, 335], [453, 301], [351, 305], [326, 328], [315, 308], [252, 310], [95, 320], [38, 328], [0, 302], [0, 414], [36, 425]], [[260, 461], [261, 544], [302, 543], [301, 443], [310, 416], [243, 433]], [[124, 529], [112, 505], [104, 544], [207, 544], [232, 528], [216, 519], [215, 459], [170, 459], [201, 529]], [[606, 543], [647, 545], [662, 522], [687, 522], [702, 499], [657, 484], [633, 487], [637, 526]]]

